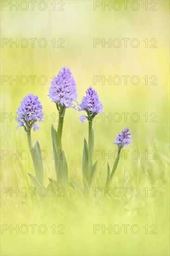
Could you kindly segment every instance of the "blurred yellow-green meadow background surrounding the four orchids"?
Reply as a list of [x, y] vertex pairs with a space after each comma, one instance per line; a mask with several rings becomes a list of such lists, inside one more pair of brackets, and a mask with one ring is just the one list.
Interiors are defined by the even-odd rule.
[[[169, 1], [19, 0], [0, 4], [1, 192], [6, 188], [1, 193], [1, 255], [170, 255]], [[104, 187], [107, 162], [113, 166], [117, 149], [112, 142], [122, 128], [130, 127], [133, 139], [125, 148], [127, 159], [122, 155], [111, 186], [120, 188], [120, 196], [99, 193], [83, 201], [71, 188], [66, 200], [10, 194], [12, 189], [33, 187], [27, 175], [34, 175], [31, 156], [23, 159], [22, 155], [22, 150], [28, 151], [26, 134], [23, 128], [15, 129], [14, 119], [19, 102], [29, 93], [38, 95], [45, 113], [41, 129], [32, 131], [32, 141], [38, 140], [47, 155], [45, 187], [48, 177], [56, 179], [50, 128], [53, 123], [57, 129], [57, 109], [47, 95], [52, 76], [63, 66], [75, 78], [78, 102], [92, 86], [103, 103], [104, 113], [93, 125], [98, 154], [94, 187]], [[84, 113], [66, 110], [62, 141], [69, 179], [82, 185], [88, 122], [81, 124], [80, 114]], [[124, 187], [131, 192], [137, 187], [140, 195], [128, 192], [125, 196]], [[32, 224], [37, 225], [34, 234]], [[26, 225], [23, 230], [21, 225]], [[45, 234], [39, 225], [45, 225]], [[94, 225], [100, 229], [96, 234]], [[109, 225], [118, 225], [115, 232], [104, 230]], [[19, 234], [12, 229], [16, 227]], [[64, 234], [57, 234], [63, 227]]]

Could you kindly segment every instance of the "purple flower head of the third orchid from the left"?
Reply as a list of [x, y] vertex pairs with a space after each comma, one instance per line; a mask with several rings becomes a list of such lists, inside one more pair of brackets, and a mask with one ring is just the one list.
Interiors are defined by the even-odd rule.
[[94, 119], [94, 116], [103, 112], [103, 105], [99, 101], [99, 96], [97, 92], [90, 86], [86, 91], [86, 96], [82, 97], [82, 102], [79, 104], [79, 111], [86, 111], [88, 116], [80, 115], [79, 119], [85, 121], [91, 121]]

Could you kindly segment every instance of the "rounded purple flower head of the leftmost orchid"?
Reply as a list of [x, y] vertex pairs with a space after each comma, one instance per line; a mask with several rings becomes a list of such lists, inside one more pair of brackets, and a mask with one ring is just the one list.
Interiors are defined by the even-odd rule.
[[44, 116], [43, 107], [40, 103], [38, 96], [34, 94], [28, 94], [23, 98], [16, 112], [18, 114], [16, 121], [19, 123], [17, 129], [23, 127], [26, 132], [31, 130], [32, 127], [34, 131], [39, 129], [39, 125], [36, 122], [43, 121]]

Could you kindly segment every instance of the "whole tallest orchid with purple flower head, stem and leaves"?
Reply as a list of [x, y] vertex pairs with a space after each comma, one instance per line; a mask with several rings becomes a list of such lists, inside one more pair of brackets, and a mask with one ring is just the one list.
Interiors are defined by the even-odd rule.
[[[51, 135], [53, 141], [53, 149], [55, 153], [55, 168], [57, 175], [57, 182], [62, 186], [67, 186], [68, 183], [68, 170], [67, 162], [62, 150], [62, 133], [63, 133], [63, 121], [64, 115], [67, 108], [76, 108], [73, 101], [77, 99], [77, 89], [74, 77], [68, 67], [63, 67], [54, 76], [51, 81], [48, 96], [52, 102], [56, 103], [56, 107], [59, 113], [58, 128], [51, 127]], [[63, 154], [63, 159], [58, 160], [58, 154]]]

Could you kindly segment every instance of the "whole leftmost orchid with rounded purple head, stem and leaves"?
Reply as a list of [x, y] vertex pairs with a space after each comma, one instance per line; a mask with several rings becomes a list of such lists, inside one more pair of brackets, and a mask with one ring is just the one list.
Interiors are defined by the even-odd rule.
[[23, 127], [28, 139], [28, 145], [30, 148], [30, 152], [32, 155], [32, 160], [34, 163], [36, 177], [29, 174], [34, 184], [41, 186], [44, 182], [44, 174], [43, 174], [43, 163], [42, 159], [39, 158], [38, 154], [40, 149], [39, 142], [36, 141], [34, 146], [32, 146], [31, 141], [31, 128], [33, 131], [39, 129], [39, 125], [36, 123], [37, 121], [43, 121], [43, 112], [42, 112], [41, 102], [38, 101], [38, 96], [34, 94], [28, 94], [23, 98], [23, 101], [20, 102], [20, 106], [17, 110], [16, 121], [18, 121], [19, 127]]

